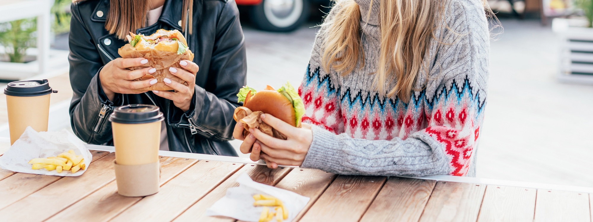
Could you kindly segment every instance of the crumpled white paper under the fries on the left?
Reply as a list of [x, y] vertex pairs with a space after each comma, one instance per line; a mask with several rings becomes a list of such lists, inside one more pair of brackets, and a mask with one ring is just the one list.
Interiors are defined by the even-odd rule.
[[[31, 159], [58, 156], [60, 153], [68, 152], [68, 150], [74, 150], [75, 155], [82, 155], [87, 168], [80, 169], [75, 173], [72, 173], [71, 170], [62, 170], [61, 173], [58, 173], [56, 170], [31, 169], [31, 165], [28, 163]], [[27, 127], [23, 135], [12, 144], [10, 149], [0, 156], [0, 168], [20, 173], [80, 176], [82, 173], [87, 172], [91, 160], [93, 160], [93, 155], [84, 146], [84, 142], [68, 130], [37, 132], [31, 127]]]

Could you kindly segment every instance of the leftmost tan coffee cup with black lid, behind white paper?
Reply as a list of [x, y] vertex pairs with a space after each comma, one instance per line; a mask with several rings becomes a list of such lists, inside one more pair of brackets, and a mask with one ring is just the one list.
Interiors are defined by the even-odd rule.
[[17, 141], [30, 126], [35, 131], [47, 131], [49, 97], [52, 90], [47, 79], [8, 83], [4, 89], [8, 111], [10, 144]]

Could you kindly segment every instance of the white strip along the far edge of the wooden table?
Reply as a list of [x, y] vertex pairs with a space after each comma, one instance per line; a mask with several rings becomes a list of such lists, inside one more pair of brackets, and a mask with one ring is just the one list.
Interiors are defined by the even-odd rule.
[[[87, 144], [86, 146], [90, 150], [115, 152], [115, 149], [113, 146], [100, 146], [100, 145], [92, 145], [92, 144]], [[173, 151], [164, 151], [164, 150], [160, 150], [158, 152], [158, 155], [178, 157], [178, 158], [187, 158], [187, 159], [212, 160], [212, 161], [222, 161], [222, 162], [266, 165], [266, 163], [263, 162], [262, 160], [260, 160], [259, 162], [253, 162], [248, 158], [234, 157], [234, 156], [216, 156], [216, 155], [206, 155], [206, 154], [199, 154], [199, 153], [183, 153], [183, 152], [173, 152]], [[285, 166], [285, 167], [298, 168], [298, 166]], [[586, 186], [541, 184], [541, 183], [534, 183], [534, 182], [506, 181], [506, 180], [501, 180], [501, 179], [475, 178], [475, 177], [469, 177], [469, 176], [433, 175], [433, 176], [421, 176], [421, 177], [409, 177], [409, 176], [401, 176], [401, 177], [416, 178], [416, 179], [429, 179], [429, 180], [435, 180], [435, 181], [461, 182], [461, 183], [470, 183], [470, 184], [517, 186], [517, 187], [524, 187], [524, 188], [554, 189], [554, 190], [560, 190], [560, 191], [593, 193], [593, 188], [586, 187]]]

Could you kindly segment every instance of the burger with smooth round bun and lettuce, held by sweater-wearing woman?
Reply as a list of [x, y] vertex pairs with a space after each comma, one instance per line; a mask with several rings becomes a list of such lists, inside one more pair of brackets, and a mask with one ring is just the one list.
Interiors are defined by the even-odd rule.
[[278, 90], [272, 86], [266, 86], [259, 92], [243, 86], [237, 97], [238, 102], [243, 102], [243, 106], [235, 109], [233, 118], [237, 123], [243, 123], [243, 136], [249, 134], [249, 128], [258, 128], [270, 136], [286, 139], [282, 133], [263, 123], [260, 115], [264, 113], [273, 115], [291, 126], [301, 127], [305, 105], [302, 103], [301, 96], [288, 82]]

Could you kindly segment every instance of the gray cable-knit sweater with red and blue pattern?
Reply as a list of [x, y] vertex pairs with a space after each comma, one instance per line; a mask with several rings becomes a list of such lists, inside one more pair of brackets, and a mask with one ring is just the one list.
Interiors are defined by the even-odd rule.
[[[448, 0], [415, 88], [406, 104], [372, 89], [380, 50], [380, 1], [354, 0], [361, 8], [365, 66], [342, 76], [321, 68], [315, 39], [299, 88], [303, 121], [313, 143], [302, 167], [346, 175], [474, 176], [480, 125], [486, 104], [489, 29], [480, 0]], [[325, 22], [333, 22], [331, 10]], [[366, 21], [368, 10], [371, 17]], [[368, 24], [367, 24], [368, 23]], [[321, 33], [321, 32], [320, 32]], [[396, 80], [397, 81], [397, 80]], [[393, 88], [391, 82], [386, 90]]]

